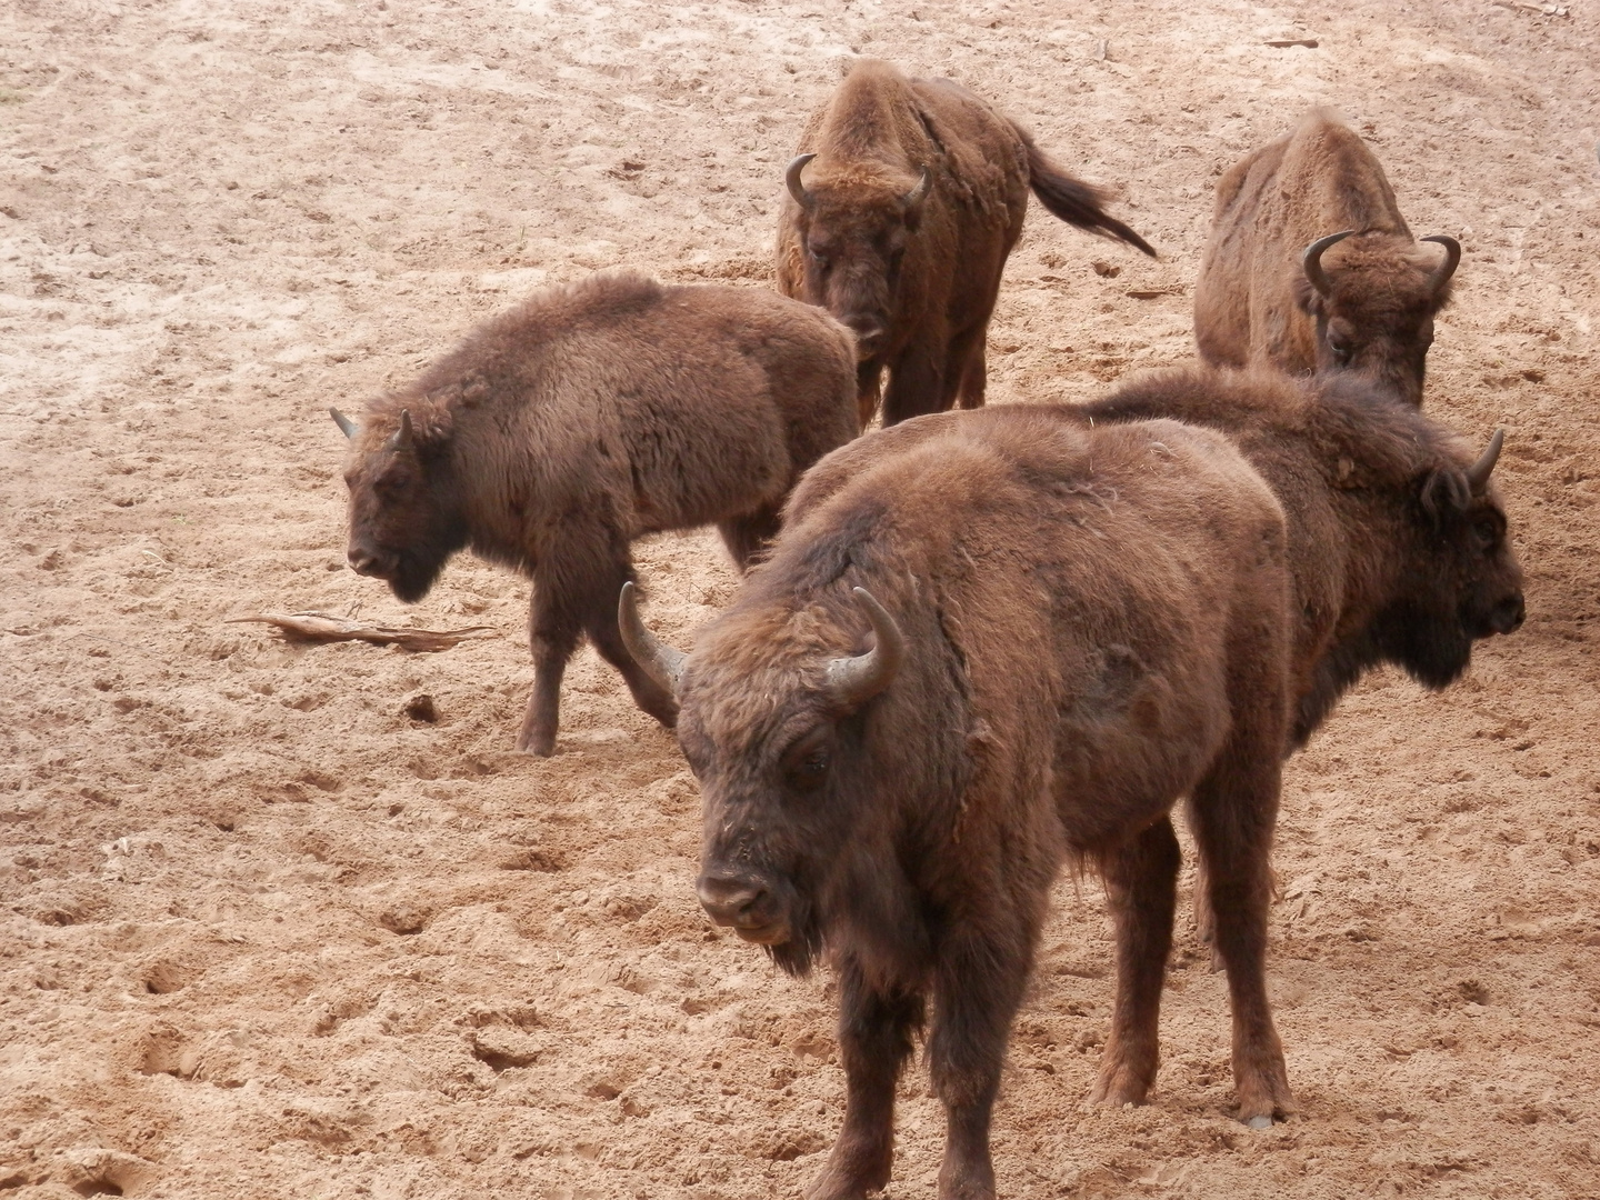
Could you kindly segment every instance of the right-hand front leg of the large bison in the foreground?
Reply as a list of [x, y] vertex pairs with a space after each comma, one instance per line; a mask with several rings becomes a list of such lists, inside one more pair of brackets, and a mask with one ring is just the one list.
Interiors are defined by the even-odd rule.
[[957, 933], [941, 950], [928, 1066], [944, 1102], [939, 1200], [992, 1200], [989, 1120], [1000, 1091], [1011, 1018], [1022, 1002], [1037, 920], [1006, 917], [1005, 941]]

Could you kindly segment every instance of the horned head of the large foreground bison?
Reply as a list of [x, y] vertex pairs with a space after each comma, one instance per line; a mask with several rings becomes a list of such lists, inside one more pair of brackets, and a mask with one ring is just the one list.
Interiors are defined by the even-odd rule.
[[685, 658], [645, 629], [632, 584], [618, 613], [629, 651], [680, 704], [678, 744], [704, 797], [701, 906], [792, 974], [821, 949], [840, 864], [866, 837], [861, 714], [906, 653], [883, 606], [861, 587], [854, 598], [870, 646], [837, 645], [856, 638], [810, 608], [754, 626], [725, 614]]

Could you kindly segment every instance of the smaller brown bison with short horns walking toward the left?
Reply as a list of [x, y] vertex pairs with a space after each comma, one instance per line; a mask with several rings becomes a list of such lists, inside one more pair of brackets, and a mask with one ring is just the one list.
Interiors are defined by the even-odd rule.
[[715, 523], [749, 566], [800, 474], [859, 432], [854, 346], [832, 317], [629, 274], [542, 291], [360, 426], [333, 416], [352, 442], [350, 566], [405, 602], [467, 547], [531, 576], [517, 749], [541, 755], [582, 634], [645, 712], [669, 728], [677, 717], [618, 637], [629, 542]]

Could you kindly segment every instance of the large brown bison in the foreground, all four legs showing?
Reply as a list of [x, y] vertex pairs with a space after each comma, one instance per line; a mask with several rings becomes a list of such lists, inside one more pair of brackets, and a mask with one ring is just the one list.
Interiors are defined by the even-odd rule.
[[[1061, 413], [1067, 411], [1067, 416]], [[1117, 1022], [1094, 1096], [1142, 1101], [1192, 797], [1246, 1118], [1290, 1107], [1267, 1006], [1267, 856], [1290, 718], [1283, 514], [1221, 435], [1070, 410], [926, 416], [802, 480], [770, 562], [674, 688], [704, 790], [698, 891], [838, 973], [845, 1123], [813, 1200], [890, 1179], [894, 1085], [931, 998], [941, 1197], [992, 1197], [989, 1118], [1051, 880], [1094, 861]]]

